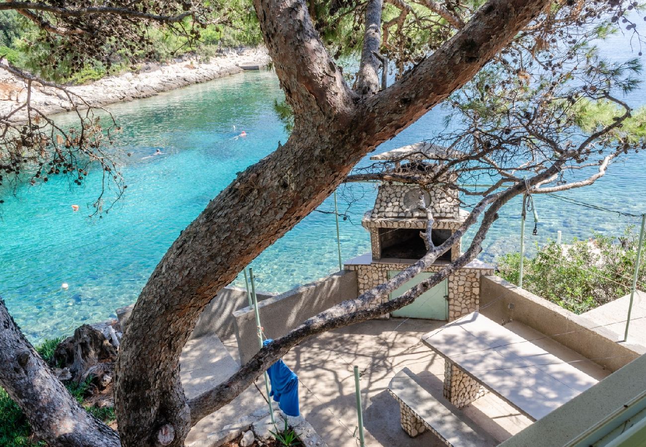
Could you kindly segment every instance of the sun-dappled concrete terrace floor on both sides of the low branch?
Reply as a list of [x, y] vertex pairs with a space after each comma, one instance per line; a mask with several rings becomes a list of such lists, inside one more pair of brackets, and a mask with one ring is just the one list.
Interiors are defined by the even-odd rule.
[[[356, 364], [360, 370], [366, 369], [361, 379], [366, 445], [443, 445], [428, 431], [415, 439], [408, 437], [400, 426], [399, 404], [386, 391], [391, 377], [404, 367], [410, 368], [433, 388], [442, 390], [444, 360], [420, 340], [422, 335], [443, 324], [445, 322], [403, 318], [370, 320], [303, 342], [284, 357], [302, 381], [299, 390], [302, 415], [329, 446], [356, 446], [352, 437], [357, 425], [353, 377], [353, 365]], [[525, 338], [543, 336], [518, 322], [510, 322], [505, 327]], [[535, 343], [564, 362], [582, 360], [574, 365], [595, 379], [601, 380], [610, 373], [550, 338]], [[214, 335], [191, 340], [182, 359], [182, 380], [187, 394], [199, 393], [228, 377], [238, 366], [233, 359], [236, 352], [234, 337], [225, 340], [224, 344]], [[256, 384], [264, 391], [262, 381], [258, 380]], [[187, 444], [233, 422], [245, 411], [251, 413], [264, 406], [266, 403], [260, 391], [251, 387], [217, 415], [200, 422], [191, 431]], [[504, 441], [532, 423], [492, 393], [477, 399], [463, 411], [498, 441]]]

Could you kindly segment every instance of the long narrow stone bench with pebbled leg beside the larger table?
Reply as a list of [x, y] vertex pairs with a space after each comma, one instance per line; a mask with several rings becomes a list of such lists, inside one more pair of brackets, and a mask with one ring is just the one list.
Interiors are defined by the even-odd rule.
[[410, 437], [427, 429], [448, 446], [486, 447], [498, 442], [466, 417], [442, 392], [404, 368], [388, 384], [388, 392], [399, 402], [401, 426]]

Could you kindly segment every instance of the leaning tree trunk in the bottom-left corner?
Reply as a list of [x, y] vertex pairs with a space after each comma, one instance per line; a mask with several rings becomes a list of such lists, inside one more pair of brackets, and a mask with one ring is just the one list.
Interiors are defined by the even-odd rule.
[[0, 299], [0, 384], [50, 446], [116, 447], [117, 433], [83, 410], [26, 340]]

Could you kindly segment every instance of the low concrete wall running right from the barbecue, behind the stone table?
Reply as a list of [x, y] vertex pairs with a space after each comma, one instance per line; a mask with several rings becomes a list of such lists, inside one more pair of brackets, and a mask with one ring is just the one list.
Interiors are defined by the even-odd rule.
[[[505, 324], [517, 321], [533, 327], [567, 348], [593, 360], [603, 368], [616, 371], [646, 353], [637, 344], [618, 343], [618, 335], [588, 318], [521, 289], [499, 276], [482, 276], [480, 312]], [[617, 319], [623, 317], [618, 315]], [[613, 358], [610, 358], [613, 357]]]

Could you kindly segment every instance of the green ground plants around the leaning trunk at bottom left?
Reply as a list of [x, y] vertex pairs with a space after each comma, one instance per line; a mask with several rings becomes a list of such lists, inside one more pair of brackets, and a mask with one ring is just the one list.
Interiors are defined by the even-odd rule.
[[[50, 363], [54, 355], [54, 349], [63, 338], [47, 339], [39, 346], [36, 346], [36, 352], [39, 353], [43, 360]], [[85, 381], [65, 385], [70, 394], [79, 404], [83, 405], [83, 399], [87, 396], [92, 383], [92, 377]], [[83, 405], [86, 411], [94, 415], [103, 422], [109, 423], [116, 420], [114, 408], [112, 407], [95, 407]], [[0, 388], [0, 446], [3, 447], [43, 447], [45, 442], [36, 441], [31, 436], [31, 428], [23, 411], [8, 395]]]

